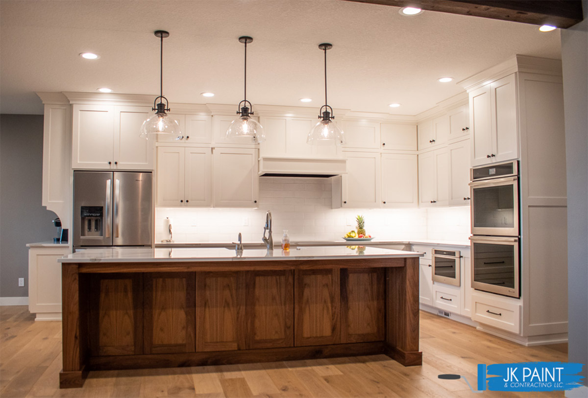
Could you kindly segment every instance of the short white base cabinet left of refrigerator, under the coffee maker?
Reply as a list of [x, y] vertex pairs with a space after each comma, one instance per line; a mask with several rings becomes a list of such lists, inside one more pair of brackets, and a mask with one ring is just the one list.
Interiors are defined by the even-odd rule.
[[29, 311], [35, 321], [61, 321], [61, 264], [69, 245], [29, 247]]

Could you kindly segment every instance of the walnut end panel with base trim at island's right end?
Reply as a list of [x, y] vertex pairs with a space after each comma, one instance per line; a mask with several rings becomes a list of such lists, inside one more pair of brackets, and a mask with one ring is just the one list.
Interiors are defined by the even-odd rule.
[[405, 366], [421, 365], [419, 351], [419, 259], [386, 269], [387, 355]]

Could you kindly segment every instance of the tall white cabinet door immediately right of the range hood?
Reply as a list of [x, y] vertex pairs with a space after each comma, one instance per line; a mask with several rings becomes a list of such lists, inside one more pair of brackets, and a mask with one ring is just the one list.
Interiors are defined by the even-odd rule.
[[342, 207], [380, 207], [380, 154], [343, 151], [347, 174], [342, 178]]

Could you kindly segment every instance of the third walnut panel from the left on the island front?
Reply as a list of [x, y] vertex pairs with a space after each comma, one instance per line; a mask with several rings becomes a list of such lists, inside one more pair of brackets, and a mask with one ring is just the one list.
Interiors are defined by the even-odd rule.
[[245, 272], [196, 272], [196, 351], [245, 349]]

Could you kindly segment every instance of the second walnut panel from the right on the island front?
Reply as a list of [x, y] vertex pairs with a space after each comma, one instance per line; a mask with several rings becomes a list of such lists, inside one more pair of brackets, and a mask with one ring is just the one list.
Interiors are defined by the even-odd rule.
[[339, 269], [297, 269], [294, 286], [296, 346], [340, 342]]

